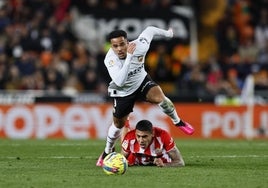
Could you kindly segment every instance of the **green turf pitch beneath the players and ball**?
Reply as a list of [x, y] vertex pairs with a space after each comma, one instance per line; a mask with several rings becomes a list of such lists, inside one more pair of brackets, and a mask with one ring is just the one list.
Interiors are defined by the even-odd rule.
[[268, 140], [176, 143], [183, 168], [131, 167], [108, 176], [95, 166], [104, 140], [0, 139], [0, 187], [268, 187]]

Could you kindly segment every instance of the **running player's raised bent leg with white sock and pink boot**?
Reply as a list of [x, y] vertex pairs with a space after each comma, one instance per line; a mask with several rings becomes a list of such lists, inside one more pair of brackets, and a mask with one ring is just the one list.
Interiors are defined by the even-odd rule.
[[179, 118], [173, 102], [165, 96], [160, 86], [156, 85], [151, 87], [146, 94], [146, 99], [148, 102], [158, 104], [160, 109], [167, 114], [172, 122], [184, 133], [189, 135], [194, 133], [194, 128], [189, 123]]

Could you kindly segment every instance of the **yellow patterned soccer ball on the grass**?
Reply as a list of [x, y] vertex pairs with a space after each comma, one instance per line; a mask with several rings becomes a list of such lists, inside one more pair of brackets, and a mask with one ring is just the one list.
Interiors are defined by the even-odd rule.
[[107, 175], [124, 174], [128, 168], [127, 159], [121, 153], [112, 152], [104, 158], [102, 168]]

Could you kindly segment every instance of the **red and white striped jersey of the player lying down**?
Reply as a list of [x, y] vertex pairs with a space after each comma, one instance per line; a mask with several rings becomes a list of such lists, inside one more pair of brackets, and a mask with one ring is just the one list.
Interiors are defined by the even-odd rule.
[[155, 158], [161, 158], [164, 163], [171, 162], [167, 152], [175, 147], [173, 138], [159, 127], [153, 127], [153, 130], [153, 140], [146, 149], [140, 147], [136, 140], [135, 130], [126, 134], [122, 141], [122, 149], [129, 153], [129, 165], [152, 165]]

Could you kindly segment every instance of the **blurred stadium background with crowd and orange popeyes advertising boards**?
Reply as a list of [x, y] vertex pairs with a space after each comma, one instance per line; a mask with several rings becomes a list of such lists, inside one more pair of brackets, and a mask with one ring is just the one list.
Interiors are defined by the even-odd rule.
[[[152, 43], [146, 68], [196, 127], [193, 137], [267, 138], [267, 4], [2, 0], [0, 137], [104, 138], [111, 119], [105, 36], [120, 27], [132, 39], [153, 24], [174, 27], [175, 37]], [[248, 76], [254, 105], [241, 97]], [[157, 107], [138, 104], [131, 125], [141, 118], [185, 137]]]

